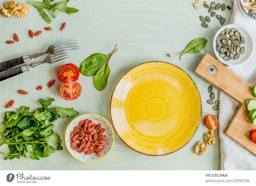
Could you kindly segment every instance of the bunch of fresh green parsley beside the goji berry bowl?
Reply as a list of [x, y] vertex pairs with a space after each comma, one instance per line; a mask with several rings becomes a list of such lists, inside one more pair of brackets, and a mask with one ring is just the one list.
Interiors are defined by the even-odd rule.
[[29, 112], [29, 107], [21, 106], [15, 111], [5, 112], [4, 120], [0, 128], [0, 146], [8, 144], [10, 152], [5, 159], [20, 158], [30, 159], [44, 158], [62, 150], [62, 140], [59, 134], [53, 134], [53, 124], [57, 118], [75, 118], [79, 113], [73, 108], [64, 109], [56, 107], [48, 110], [53, 98], [39, 99], [42, 108]]

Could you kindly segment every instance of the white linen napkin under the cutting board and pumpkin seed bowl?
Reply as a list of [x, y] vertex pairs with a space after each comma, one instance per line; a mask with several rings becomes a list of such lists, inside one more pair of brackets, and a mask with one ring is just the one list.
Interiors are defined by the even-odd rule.
[[[230, 24], [237, 24], [246, 28], [253, 39], [256, 39], [256, 20], [245, 16], [240, 8], [240, 0], [234, 0]], [[255, 41], [255, 40], [254, 40]], [[255, 42], [254, 42], [255, 43]], [[256, 43], [255, 43], [256, 44]], [[246, 50], [246, 49], [245, 49]], [[252, 85], [256, 75], [256, 51], [253, 50], [251, 58], [242, 65], [228, 66], [237, 76]], [[256, 156], [244, 149], [238, 143], [226, 136], [223, 131], [236, 112], [235, 101], [220, 92], [219, 110], [219, 137], [220, 137], [220, 169], [221, 170], [256, 170]]]

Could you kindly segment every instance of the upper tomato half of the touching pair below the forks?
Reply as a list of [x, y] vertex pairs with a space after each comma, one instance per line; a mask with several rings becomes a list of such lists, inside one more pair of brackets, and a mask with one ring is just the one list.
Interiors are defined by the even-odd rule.
[[61, 82], [77, 81], [79, 78], [79, 69], [73, 63], [60, 66], [57, 73]]

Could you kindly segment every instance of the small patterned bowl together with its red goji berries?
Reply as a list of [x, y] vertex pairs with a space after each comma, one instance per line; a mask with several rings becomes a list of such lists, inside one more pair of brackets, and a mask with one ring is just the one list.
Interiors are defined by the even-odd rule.
[[72, 120], [65, 132], [68, 152], [77, 160], [92, 163], [105, 158], [114, 144], [108, 120], [97, 114], [83, 114]]

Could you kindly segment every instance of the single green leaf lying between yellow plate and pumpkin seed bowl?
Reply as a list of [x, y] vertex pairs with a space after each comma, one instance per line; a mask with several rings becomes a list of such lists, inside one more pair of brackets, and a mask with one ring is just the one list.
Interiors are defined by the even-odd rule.
[[201, 50], [203, 50], [203, 48], [205, 47], [207, 42], [208, 41], [206, 39], [204, 39], [204, 37], [198, 37], [198, 38], [192, 40], [191, 42], [188, 43], [184, 52], [182, 54], [180, 54], [180, 57], [186, 53], [189, 53], [189, 54], [199, 53]]

